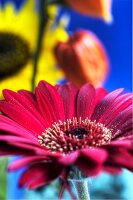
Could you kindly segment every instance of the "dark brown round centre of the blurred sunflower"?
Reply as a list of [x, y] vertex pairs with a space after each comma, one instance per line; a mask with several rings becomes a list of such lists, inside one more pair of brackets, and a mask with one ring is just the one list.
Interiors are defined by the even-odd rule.
[[12, 33], [0, 32], [0, 79], [18, 72], [29, 58], [25, 40]]

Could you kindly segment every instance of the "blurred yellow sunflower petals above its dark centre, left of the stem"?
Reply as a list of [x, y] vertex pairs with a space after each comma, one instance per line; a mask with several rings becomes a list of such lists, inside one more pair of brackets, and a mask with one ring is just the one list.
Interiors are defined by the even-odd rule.
[[38, 13], [34, 2], [26, 1], [20, 10], [16, 10], [12, 3], [7, 3], [4, 8], [0, 8], [0, 32], [19, 35], [28, 42], [32, 50], [36, 46], [38, 34]]

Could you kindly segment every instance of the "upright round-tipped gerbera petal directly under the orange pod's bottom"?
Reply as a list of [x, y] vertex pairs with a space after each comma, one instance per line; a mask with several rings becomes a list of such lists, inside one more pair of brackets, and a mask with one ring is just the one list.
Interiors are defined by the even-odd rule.
[[85, 119], [90, 117], [94, 110], [95, 89], [89, 84], [85, 84], [79, 90], [77, 96], [77, 116]]

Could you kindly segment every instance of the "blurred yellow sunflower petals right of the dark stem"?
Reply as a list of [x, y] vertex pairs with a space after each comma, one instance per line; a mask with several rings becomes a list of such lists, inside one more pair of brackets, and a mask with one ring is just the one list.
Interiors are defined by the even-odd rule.
[[48, 13], [51, 16], [42, 41], [42, 51], [40, 55], [40, 62], [38, 63], [38, 73], [36, 75], [36, 85], [40, 80], [45, 78], [51, 84], [57, 83], [61, 77], [64, 76], [62, 70], [57, 67], [57, 61], [54, 55], [54, 48], [58, 42], [66, 42], [68, 34], [65, 27], [68, 24], [69, 18], [62, 16], [59, 22], [56, 22], [58, 8], [50, 6]]

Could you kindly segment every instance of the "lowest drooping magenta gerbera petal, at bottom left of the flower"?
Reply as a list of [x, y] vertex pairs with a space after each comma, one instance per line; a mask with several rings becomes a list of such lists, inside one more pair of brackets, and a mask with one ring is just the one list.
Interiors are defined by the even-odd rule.
[[[48, 184], [61, 174], [61, 167], [49, 163], [39, 163], [29, 167], [21, 176], [19, 186], [26, 185], [29, 189], [35, 189], [42, 184]], [[34, 175], [34, 176], [33, 176]]]

